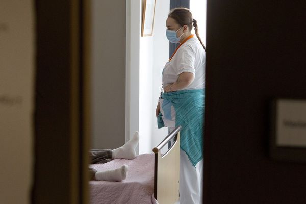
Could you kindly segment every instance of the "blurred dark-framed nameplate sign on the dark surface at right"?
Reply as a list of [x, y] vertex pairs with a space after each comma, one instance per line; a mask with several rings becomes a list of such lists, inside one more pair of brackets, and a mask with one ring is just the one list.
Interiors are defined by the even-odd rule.
[[272, 159], [306, 162], [306, 99], [275, 99], [270, 130]]

